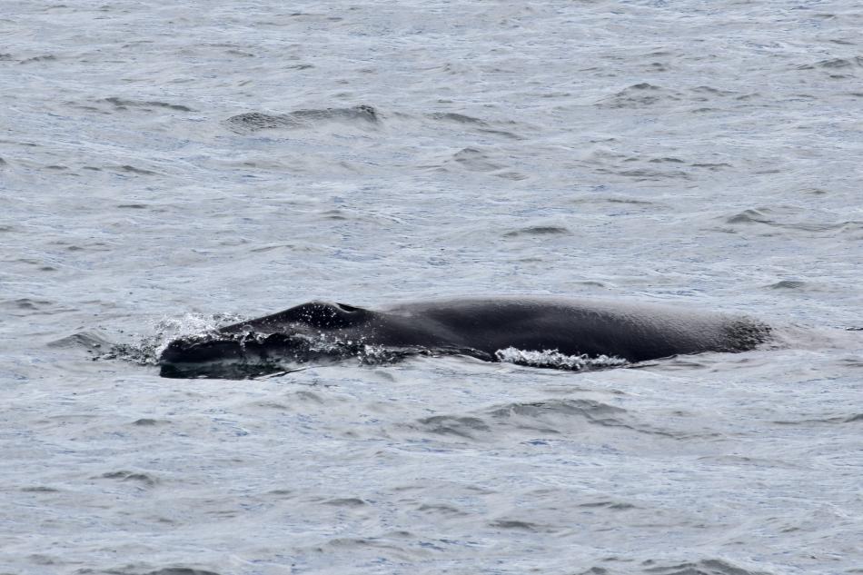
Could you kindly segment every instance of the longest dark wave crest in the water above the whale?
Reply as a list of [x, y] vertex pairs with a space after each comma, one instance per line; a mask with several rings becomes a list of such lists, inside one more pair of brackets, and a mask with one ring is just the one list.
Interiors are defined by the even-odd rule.
[[249, 112], [233, 115], [226, 120], [228, 126], [238, 134], [253, 134], [261, 130], [278, 128], [312, 127], [327, 122], [353, 125], [378, 124], [380, 116], [372, 106], [356, 105], [350, 108], [323, 108], [321, 110], [297, 110], [290, 114], [264, 114]]

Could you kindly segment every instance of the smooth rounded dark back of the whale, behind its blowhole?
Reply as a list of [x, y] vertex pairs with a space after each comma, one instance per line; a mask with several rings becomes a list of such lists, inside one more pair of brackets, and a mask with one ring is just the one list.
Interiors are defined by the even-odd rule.
[[769, 332], [747, 318], [602, 300], [475, 298], [405, 303], [385, 312], [436, 324], [437, 331], [454, 334], [454, 345], [491, 355], [513, 347], [640, 362], [685, 353], [745, 351]]

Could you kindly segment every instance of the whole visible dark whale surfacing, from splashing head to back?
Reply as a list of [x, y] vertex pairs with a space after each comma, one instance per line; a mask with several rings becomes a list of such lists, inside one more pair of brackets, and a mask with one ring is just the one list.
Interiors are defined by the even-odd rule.
[[509, 349], [644, 362], [745, 352], [769, 334], [767, 324], [747, 316], [635, 302], [483, 297], [370, 310], [315, 301], [176, 339], [159, 364], [163, 377], [243, 379], [348, 357], [463, 354], [496, 362]]

